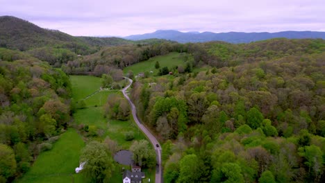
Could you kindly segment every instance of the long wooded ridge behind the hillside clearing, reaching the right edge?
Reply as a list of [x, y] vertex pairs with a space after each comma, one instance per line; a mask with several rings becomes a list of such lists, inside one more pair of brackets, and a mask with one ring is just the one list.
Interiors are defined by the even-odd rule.
[[267, 61], [288, 55], [321, 53], [324, 40], [274, 39], [250, 44], [228, 44], [226, 42], [188, 43], [160, 42], [156, 44], [131, 44], [102, 49], [92, 55], [77, 58], [63, 65], [67, 73], [95, 72], [103, 67], [123, 69], [131, 64], [148, 60], [169, 52], [189, 53], [193, 66], [208, 64], [212, 67], [235, 67], [243, 63]]

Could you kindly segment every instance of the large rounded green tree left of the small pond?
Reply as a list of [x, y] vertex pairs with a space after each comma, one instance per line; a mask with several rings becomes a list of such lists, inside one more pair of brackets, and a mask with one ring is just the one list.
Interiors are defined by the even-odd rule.
[[81, 152], [81, 162], [85, 162], [83, 172], [92, 182], [108, 182], [115, 166], [108, 149], [98, 141], [91, 141]]

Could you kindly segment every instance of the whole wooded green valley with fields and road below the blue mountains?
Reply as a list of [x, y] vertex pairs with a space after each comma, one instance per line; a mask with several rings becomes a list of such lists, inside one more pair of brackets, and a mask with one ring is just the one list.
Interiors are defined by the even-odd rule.
[[0, 182], [325, 180], [325, 40], [75, 37], [3, 16], [0, 47]]

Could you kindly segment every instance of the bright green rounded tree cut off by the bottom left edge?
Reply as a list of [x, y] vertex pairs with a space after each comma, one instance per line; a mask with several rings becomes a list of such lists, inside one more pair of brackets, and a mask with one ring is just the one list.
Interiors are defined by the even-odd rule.
[[15, 153], [9, 146], [0, 143], [0, 177], [8, 179], [16, 173]]

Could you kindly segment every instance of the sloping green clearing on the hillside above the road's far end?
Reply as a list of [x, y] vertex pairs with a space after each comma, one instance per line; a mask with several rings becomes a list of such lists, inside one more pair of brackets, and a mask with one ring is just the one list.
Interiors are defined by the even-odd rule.
[[172, 52], [167, 55], [160, 55], [150, 58], [147, 61], [139, 62], [138, 64], [133, 64], [130, 67], [124, 68], [124, 73], [128, 73], [129, 70], [133, 71], [136, 76], [138, 73], [145, 71], [153, 71], [152, 75], [155, 76], [159, 69], [155, 69], [156, 61], [159, 62], [160, 68], [168, 67], [171, 69], [174, 66], [185, 65], [185, 58], [181, 54], [186, 53], [176, 53]]

